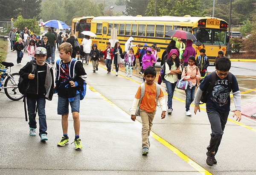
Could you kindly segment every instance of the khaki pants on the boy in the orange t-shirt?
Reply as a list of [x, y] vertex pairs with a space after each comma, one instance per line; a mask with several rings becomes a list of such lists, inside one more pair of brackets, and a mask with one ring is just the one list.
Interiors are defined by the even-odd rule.
[[141, 133], [142, 147], [149, 148], [148, 136], [150, 135], [155, 114], [156, 114], [156, 110], [152, 113], [148, 113], [145, 110], [140, 109], [140, 117], [142, 121], [142, 133]]

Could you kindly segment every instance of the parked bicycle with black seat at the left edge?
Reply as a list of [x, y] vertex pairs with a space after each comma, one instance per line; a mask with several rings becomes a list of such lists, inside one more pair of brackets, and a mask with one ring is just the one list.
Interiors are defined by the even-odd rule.
[[[11, 67], [14, 66], [12, 62], [1, 62], [1, 64], [4, 65], [5, 68], [0, 69], [0, 72], [3, 72], [0, 75], [0, 91], [4, 89], [4, 93], [6, 94], [6, 96], [13, 101], [18, 101], [22, 99], [24, 95], [21, 94], [18, 89], [20, 74], [17, 72], [11, 73]], [[9, 68], [10, 71], [7, 71]]]

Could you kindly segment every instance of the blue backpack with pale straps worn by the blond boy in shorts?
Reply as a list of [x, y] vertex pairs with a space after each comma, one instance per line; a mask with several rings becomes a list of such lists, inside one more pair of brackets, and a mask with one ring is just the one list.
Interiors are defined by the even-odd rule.
[[[70, 62], [70, 67], [69, 67], [69, 78], [73, 79], [75, 77], [75, 66], [76, 66], [76, 62], [78, 62], [77, 59], [73, 58], [71, 59]], [[58, 80], [60, 77], [60, 66], [61, 66], [61, 59], [58, 59], [56, 61], [56, 79]], [[83, 86], [81, 89], [79, 89], [79, 95], [80, 95], [80, 100], [84, 99], [84, 96], [86, 94], [86, 80], [84, 80]]]

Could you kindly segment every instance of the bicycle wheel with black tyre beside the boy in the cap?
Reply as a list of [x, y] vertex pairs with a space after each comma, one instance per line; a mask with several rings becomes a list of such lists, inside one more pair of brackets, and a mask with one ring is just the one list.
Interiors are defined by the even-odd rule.
[[24, 96], [23, 94], [20, 93], [18, 89], [19, 78], [20, 78], [19, 73], [12, 73], [12, 78], [8, 76], [4, 83], [4, 87], [10, 87], [10, 88], [5, 88], [4, 92], [6, 96], [13, 101], [18, 101], [22, 99]]

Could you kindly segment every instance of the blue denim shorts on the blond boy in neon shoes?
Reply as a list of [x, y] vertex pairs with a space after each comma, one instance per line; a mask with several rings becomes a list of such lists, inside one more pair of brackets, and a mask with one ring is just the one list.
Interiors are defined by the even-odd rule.
[[69, 102], [68, 98], [58, 96], [58, 115], [66, 115], [69, 113], [68, 104], [70, 103], [71, 112], [79, 112], [80, 109], [80, 96], [76, 95], [74, 101]]

